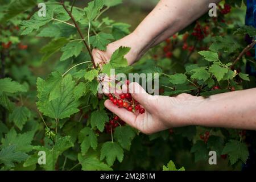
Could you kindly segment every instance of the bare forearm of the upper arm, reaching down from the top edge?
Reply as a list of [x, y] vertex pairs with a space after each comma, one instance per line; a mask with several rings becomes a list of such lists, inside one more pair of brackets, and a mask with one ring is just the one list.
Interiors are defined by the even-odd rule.
[[220, 0], [161, 0], [133, 32], [139, 40], [139, 57], [198, 19], [209, 10], [209, 3], [212, 2]]

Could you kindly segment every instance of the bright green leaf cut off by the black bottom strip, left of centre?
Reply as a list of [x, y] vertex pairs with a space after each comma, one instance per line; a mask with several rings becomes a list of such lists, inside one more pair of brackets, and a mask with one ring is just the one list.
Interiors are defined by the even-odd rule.
[[83, 171], [112, 171], [112, 168], [101, 162], [96, 156], [82, 156], [79, 154], [78, 160]]

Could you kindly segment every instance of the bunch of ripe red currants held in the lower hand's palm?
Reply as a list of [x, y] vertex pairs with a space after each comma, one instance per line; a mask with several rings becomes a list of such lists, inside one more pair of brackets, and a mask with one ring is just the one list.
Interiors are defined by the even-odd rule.
[[[126, 81], [127, 87], [129, 86], [129, 81]], [[109, 94], [109, 100], [112, 101], [114, 105], [117, 105], [119, 108], [126, 108], [127, 110], [131, 112], [135, 112], [135, 110], [138, 110], [140, 114], [143, 114], [145, 112], [145, 109], [142, 108], [139, 105], [139, 102], [134, 100], [133, 97], [131, 97], [130, 93], [122, 93], [118, 96], [115, 94]]]

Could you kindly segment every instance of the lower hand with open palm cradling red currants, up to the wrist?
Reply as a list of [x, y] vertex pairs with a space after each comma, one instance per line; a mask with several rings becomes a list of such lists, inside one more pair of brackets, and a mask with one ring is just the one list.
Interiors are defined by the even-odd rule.
[[[127, 90], [125, 85], [122, 89], [124, 92]], [[195, 114], [200, 111], [199, 106], [205, 101], [203, 97], [190, 94], [180, 94], [177, 97], [151, 96], [137, 82], [129, 85], [129, 93], [143, 106], [145, 113], [137, 114], [119, 108], [110, 100], [105, 101], [105, 106], [128, 125], [144, 134], [193, 125]]]

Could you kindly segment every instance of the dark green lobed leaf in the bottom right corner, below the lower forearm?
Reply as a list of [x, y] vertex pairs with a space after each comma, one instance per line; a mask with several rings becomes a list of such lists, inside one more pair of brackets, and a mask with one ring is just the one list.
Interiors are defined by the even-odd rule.
[[222, 154], [228, 154], [230, 163], [233, 165], [238, 159], [241, 159], [242, 162], [245, 163], [249, 156], [249, 151], [245, 143], [237, 140], [229, 140], [229, 142], [226, 143]]

